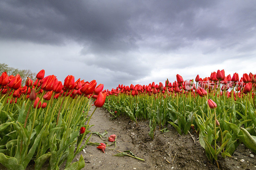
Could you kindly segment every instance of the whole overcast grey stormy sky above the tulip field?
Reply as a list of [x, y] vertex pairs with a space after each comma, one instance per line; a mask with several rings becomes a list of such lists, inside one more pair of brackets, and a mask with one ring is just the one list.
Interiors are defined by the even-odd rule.
[[0, 63], [104, 88], [256, 73], [256, 1], [0, 1]]

